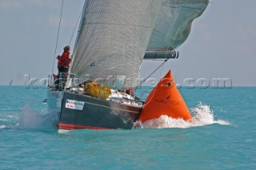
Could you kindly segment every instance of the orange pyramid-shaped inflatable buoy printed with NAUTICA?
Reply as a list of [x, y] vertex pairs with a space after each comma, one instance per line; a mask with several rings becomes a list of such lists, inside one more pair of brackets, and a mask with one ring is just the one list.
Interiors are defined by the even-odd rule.
[[170, 71], [166, 73], [166, 76], [158, 82], [158, 85], [154, 87], [146, 98], [138, 121], [144, 123], [162, 115], [184, 120], [192, 118], [190, 110], [179, 93]]

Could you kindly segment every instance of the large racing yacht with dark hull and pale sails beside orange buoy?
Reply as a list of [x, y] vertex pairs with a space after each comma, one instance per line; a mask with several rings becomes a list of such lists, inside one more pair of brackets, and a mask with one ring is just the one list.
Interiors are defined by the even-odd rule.
[[[132, 128], [143, 117], [145, 105], [154, 108], [154, 103], [145, 104], [132, 94], [131, 89], [139, 85], [142, 60], [178, 58], [175, 49], [186, 41], [194, 18], [208, 3], [86, 0], [66, 86], [56, 90], [54, 81], [49, 82], [47, 103], [57, 128]], [[93, 89], [96, 95], [92, 95]], [[105, 89], [109, 93], [102, 93]]]

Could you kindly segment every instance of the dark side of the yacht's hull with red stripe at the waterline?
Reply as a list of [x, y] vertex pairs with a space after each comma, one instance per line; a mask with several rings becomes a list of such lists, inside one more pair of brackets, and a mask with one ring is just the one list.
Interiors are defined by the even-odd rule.
[[57, 113], [59, 119], [57, 125], [58, 129], [63, 130], [76, 128], [130, 129], [141, 111], [142, 107], [134, 105], [62, 92], [62, 105]]

